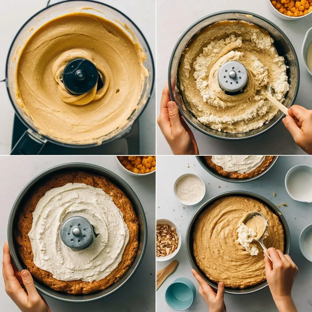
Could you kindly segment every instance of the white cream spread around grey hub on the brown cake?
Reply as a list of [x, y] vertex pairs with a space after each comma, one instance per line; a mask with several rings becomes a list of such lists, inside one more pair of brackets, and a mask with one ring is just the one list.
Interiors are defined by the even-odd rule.
[[[99, 234], [86, 249], [75, 251], [61, 240], [62, 223], [72, 216], [85, 217]], [[32, 213], [28, 233], [34, 264], [57, 280], [92, 282], [109, 275], [121, 261], [129, 229], [113, 199], [102, 189], [83, 183], [52, 188]]]

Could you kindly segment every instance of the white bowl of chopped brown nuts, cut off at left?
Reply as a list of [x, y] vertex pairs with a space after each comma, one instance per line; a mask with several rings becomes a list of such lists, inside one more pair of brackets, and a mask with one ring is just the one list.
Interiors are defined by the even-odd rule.
[[156, 261], [168, 261], [175, 257], [182, 244], [178, 227], [170, 220], [156, 222]]

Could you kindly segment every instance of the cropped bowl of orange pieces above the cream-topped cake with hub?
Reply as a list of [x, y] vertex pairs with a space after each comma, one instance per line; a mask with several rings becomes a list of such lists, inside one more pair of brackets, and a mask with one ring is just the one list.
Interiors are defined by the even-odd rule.
[[116, 156], [119, 166], [135, 176], [145, 176], [156, 171], [156, 156]]

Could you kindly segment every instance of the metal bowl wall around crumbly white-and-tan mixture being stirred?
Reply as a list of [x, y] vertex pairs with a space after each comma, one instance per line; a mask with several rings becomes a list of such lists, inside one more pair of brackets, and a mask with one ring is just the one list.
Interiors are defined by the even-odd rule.
[[[299, 90], [299, 62], [295, 52], [294, 47], [292, 46], [290, 40], [287, 36], [271, 21], [266, 18], [259, 16], [257, 14], [245, 11], [222, 11], [216, 12], [211, 15], [202, 17], [200, 20], [191, 25], [179, 38], [177, 44], [175, 45], [168, 69], [168, 84], [169, 84], [169, 93], [172, 101], [176, 102], [179, 108], [181, 115], [197, 130], [200, 132], [209, 135], [213, 138], [224, 139], [224, 140], [241, 140], [249, 139], [256, 137], [259, 134], [266, 132], [271, 129], [275, 124], [277, 124], [282, 118], [283, 113], [278, 111], [273, 119], [268, 123], [264, 124], [258, 129], [251, 130], [245, 133], [227, 133], [221, 132], [209, 128], [208, 126], [200, 123], [192, 111], [188, 107], [188, 103], [183, 100], [183, 96], [179, 89], [178, 81], [178, 71], [180, 62], [183, 56], [183, 51], [187, 48], [190, 41], [193, 37], [199, 33], [204, 27], [212, 25], [213, 23], [232, 20], [232, 21], [245, 21], [257, 25], [260, 28], [265, 29], [271, 34], [274, 38], [274, 45], [280, 56], [283, 56], [285, 59], [285, 64], [287, 68], [287, 77], [288, 83], [290, 84], [290, 90], [285, 96], [285, 101], [283, 104], [289, 108], [294, 104], [298, 90]], [[209, 42], [207, 42], [208, 44]]]

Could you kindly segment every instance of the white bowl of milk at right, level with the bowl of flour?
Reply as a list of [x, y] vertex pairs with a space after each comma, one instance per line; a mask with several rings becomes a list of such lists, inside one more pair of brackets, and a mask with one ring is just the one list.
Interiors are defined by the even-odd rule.
[[285, 176], [285, 188], [289, 196], [298, 202], [312, 202], [312, 167], [292, 167]]

